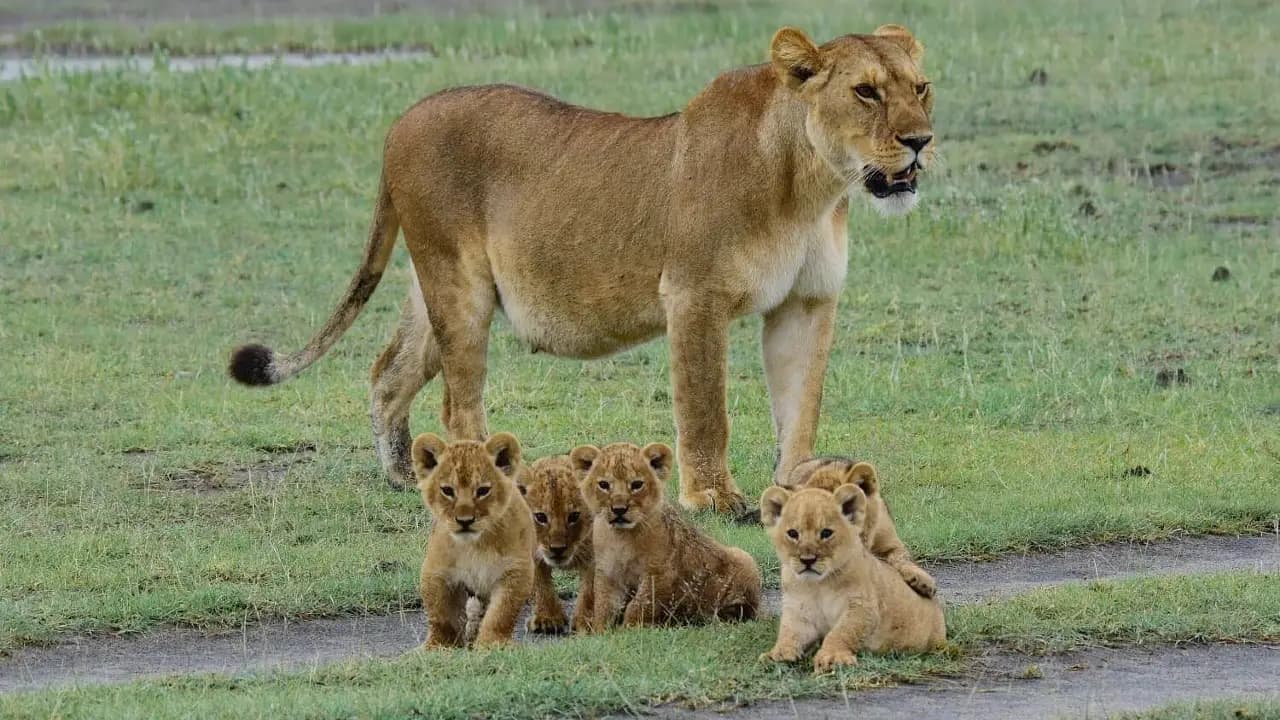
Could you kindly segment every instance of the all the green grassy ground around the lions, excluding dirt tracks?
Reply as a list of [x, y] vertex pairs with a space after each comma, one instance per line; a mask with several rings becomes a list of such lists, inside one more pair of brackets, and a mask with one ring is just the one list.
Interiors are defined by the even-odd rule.
[[[10, 51], [430, 56], [0, 86], [0, 653], [413, 606], [428, 519], [383, 482], [366, 398], [407, 287], [403, 252], [303, 377], [251, 392], [225, 378], [227, 351], [297, 347], [328, 314], [360, 256], [383, 133], [420, 96], [503, 81], [663, 114], [721, 69], [760, 61], [781, 24], [829, 37], [901, 22], [928, 46], [943, 163], [906, 219], [855, 196], [818, 443], [877, 464], [915, 553], [1274, 527], [1280, 6], [599, 5], [12, 20]], [[749, 495], [773, 460], [758, 333], [759, 320], [737, 323], [731, 355], [731, 464]], [[439, 429], [439, 398], [433, 383], [415, 432]], [[576, 363], [530, 355], [499, 327], [486, 402], [490, 427], [531, 456], [673, 439], [663, 342]], [[703, 521], [776, 583], [759, 529]], [[1276, 580], [1096, 583], [957, 607], [948, 652], [868, 657], [826, 679], [754, 664], [774, 632], [762, 620], [49, 691], [8, 696], [0, 715], [517, 717], [799, 697], [959, 671], [992, 646], [1274, 641]]]

